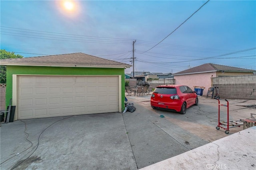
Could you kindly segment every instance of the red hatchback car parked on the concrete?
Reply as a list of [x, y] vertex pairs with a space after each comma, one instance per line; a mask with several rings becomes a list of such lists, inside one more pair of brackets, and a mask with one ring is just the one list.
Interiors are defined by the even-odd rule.
[[185, 114], [188, 107], [198, 105], [198, 97], [196, 91], [186, 85], [160, 85], [154, 89], [150, 105], [153, 109]]

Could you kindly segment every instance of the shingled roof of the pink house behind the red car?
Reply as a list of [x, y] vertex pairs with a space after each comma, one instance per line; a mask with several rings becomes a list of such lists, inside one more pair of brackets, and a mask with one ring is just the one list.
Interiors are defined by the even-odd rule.
[[173, 75], [183, 75], [183, 74], [194, 74], [194, 73], [208, 73], [208, 72], [216, 72], [216, 71], [225, 71], [225, 72], [246, 72], [246, 73], [254, 73], [255, 70], [250, 69], [242, 69], [238, 67], [230, 67], [226, 65], [218, 65], [212, 63], [206, 63], [203, 65], [199, 65], [197, 67], [193, 67], [191, 69], [186, 69], [184, 71], [180, 71]]

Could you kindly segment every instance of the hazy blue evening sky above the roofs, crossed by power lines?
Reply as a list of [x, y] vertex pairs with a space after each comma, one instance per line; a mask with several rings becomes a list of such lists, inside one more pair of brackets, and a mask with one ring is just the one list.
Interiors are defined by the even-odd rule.
[[1, 0], [1, 49], [24, 57], [82, 52], [132, 65], [136, 40], [134, 71], [204, 63], [256, 70], [256, 1], [210, 0], [175, 32], [206, 0], [73, 2], [68, 11], [63, 1]]

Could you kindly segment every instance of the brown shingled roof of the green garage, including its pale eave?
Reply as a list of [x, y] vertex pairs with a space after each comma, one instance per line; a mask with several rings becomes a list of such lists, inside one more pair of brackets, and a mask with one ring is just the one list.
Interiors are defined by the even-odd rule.
[[100, 57], [95, 57], [93, 55], [88, 55], [84, 53], [2, 59], [1, 65], [104, 68], [129, 68], [132, 66], [125, 63], [120, 63], [109, 59], [103, 59]]

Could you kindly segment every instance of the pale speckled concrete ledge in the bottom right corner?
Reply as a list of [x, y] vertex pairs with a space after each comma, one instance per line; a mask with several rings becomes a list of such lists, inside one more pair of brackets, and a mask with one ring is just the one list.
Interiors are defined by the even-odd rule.
[[[224, 133], [224, 130], [220, 130]], [[247, 128], [141, 170], [256, 168], [256, 127]]]

